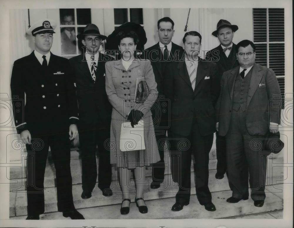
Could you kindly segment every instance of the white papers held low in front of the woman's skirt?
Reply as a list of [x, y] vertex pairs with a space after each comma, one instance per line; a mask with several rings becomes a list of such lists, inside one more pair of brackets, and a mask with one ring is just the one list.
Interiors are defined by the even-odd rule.
[[121, 124], [121, 138], [119, 141], [121, 151], [144, 150], [144, 122], [140, 120], [134, 127], [131, 122]]

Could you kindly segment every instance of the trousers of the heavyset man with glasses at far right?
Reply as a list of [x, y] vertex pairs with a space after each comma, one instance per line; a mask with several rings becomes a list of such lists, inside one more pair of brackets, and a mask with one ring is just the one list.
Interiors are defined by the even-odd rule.
[[249, 196], [249, 172], [251, 198], [253, 200], [264, 200], [267, 156], [254, 150], [252, 145], [250, 146], [251, 140], [262, 136], [248, 134], [245, 126], [245, 115], [246, 112], [233, 110], [230, 127], [226, 135], [229, 186], [233, 191], [233, 197], [247, 198]]

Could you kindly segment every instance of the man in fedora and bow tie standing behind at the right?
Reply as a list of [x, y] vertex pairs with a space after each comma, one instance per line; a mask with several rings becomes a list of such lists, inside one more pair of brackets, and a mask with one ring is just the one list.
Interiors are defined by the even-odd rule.
[[[213, 36], [218, 38], [220, 45], [207, 52], [206, 59], [216, 62], [220, 75], [239, 65], [236, 60], [236, 45], [233, 43], [234, 33], [237, 30], [237, 25], [231, 25], [229, 21], [221, 19], [217, 23], [216, 30], [212, 33]], [[216, 158], [218, 161], [216, 178], [222, 179], [227, 170], [226, 144], [225, 137], [219, 136], [218, 132], [216, 132]]]

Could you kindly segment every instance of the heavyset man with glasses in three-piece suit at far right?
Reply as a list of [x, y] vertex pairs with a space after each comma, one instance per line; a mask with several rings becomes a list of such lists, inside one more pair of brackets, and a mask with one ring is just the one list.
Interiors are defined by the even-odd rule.
[[[255, 63], [253, 42], [239, 42], [236, 57], [240, 67], [223, 74], [216, 105], [216, 128], [226, 137], [228, 179], [233, 192], [227, 202], [248, 199], [249, 171], [251, 198], [256, 207], [262, 207], [267, 157], [254, 149], [252, 140], [263, 138], [269, 131], [278, 132], [280, 99], [275, 99], [281, 94], [280, 87], [272, 69]], [[269, 106], [271, 99], [273, 106]]]

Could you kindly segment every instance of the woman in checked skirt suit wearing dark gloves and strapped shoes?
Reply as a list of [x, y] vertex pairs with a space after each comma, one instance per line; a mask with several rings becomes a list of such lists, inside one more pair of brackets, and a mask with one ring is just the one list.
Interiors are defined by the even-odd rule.
[[[111, 116], [110, 138], [115, 139], [115, 148], [111, 149], [111, 163], [116, 164], [119, 172], [120, 185], [123, 192], [121, 214], [128, 214], [130, 205], [131, 169], [134, 169], [136, 178], [136, 205], [141, 213], [147, 213], [148, 208], [143, 200], [143, 188], [145, 184], [145, 166], [149, 166], [160, 160], [151, 110], [157, 98], [156, 82], [149, 60], [134, 58], [134, 51], [138, 43], [135, 32], [119, 32], [116, 36], [118, 48], [121, 51], [121, 59], [107, 62], [106, 69], [106, 93], [113, 106]], [[149, 95], [144, 103], [134, 102], [136, 78], [145, 77], [149, 88]], [[145, 150], [120, 151], [120, 133], [123, 122], [138, 124], [144, 122]]]

